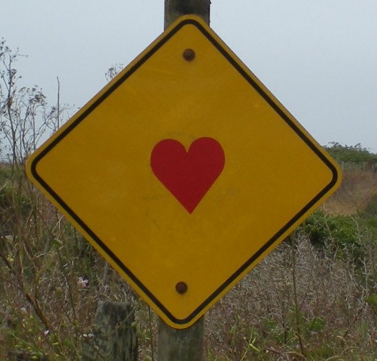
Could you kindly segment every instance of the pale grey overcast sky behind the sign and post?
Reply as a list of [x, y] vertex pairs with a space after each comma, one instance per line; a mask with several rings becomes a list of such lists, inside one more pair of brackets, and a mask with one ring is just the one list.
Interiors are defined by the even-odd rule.
[[[3, 0], [27, 85], [77, 109], [163, 32], [163, 0]], [[212, 0], [212, 29], [316, 140], [377, 152], [377, 0]], [[73, 114], [73, 111], [72, 111]]]

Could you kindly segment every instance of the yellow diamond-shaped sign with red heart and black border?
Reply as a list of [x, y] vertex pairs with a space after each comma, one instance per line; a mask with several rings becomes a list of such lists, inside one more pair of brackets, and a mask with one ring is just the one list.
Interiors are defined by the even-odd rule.
[[334, 161], [196, 17], [174, 23], [32, 154], [28, 175], [176, 328], [340, 182]]

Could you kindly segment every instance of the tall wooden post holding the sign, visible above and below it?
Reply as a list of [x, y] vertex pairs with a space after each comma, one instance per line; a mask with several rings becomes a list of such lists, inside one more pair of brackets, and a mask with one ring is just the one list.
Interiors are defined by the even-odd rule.
[[[210, 24], [210, 0], [165, 0], [165, 29], [182, 15], [195, 14]], [[204, 318], [187, 329], [172, 329], [159, 318], [159, 361], [204, 360]]]

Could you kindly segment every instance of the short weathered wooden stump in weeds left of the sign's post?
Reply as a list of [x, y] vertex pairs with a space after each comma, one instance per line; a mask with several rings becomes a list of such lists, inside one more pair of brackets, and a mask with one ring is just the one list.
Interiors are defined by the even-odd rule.
[[134, 311], [126, 302], [100, 301], [93, 333], [83, 340], [83, 361], [137, 361]]

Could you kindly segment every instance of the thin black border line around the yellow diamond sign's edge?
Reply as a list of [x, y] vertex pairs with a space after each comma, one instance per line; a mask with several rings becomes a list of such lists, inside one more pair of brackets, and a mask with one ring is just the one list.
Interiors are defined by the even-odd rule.
[[[241, 74], [241, 76], [243, 76], [243, 78], [252, 87], [254, 87], [254, 89], [263, 97], [263, 99], [265, 99], [265, 101], [275, 110], [275, 112], [279, 116], [281, 116], [285, 123], [287, 123], [287, 125], [289, 125], [289, 127], [291, 127], [292, 130], [296, 132], [296, 134], [307, 144], [307, 146], [310, 149], [312, 149], [316, 156], [318, 156], [318, 158], [320, 158], [320, 160], [323, 161], [323, 163], [325, 163], [327, 167], [329, 167], [329, 169], [332, 172], [333, 178], [332, 181], [325, 188], [323, 188], [309, 203], [307, 203], [307, 205], [305, 205], [305, 207], [303, 207], [303, 209], [300, 210], [300, 212], [298, 212], [298, 214], [296, 214], [296, 216], [289, 220], [289, 222], [284, 227], [279, 229], [279, 231], [276, 232], [276, 234], [274, 234], [274, 236], [272, 236], [272, 238], [270, 238], [267, 241], [267, 243], [265, 243], [265, 245], [263, 245], [263, 247], [261, 247], [261, 249], [259, 249], [256, 252], [256, 254], [250, 257], [247, 260], [247, 262], [245, 262], [245, 264], [243, 264], [239, 269], [237, 269], [237, 271], [234, 272], [234, 274], [232, 274], [230, 278], [227, 278], [223, 285], [221, 285], [221, 287], [218, 287], [218, 289], [216, 289], [214, 293], [212, 293], [199, 307], [197, 307], [190, 314], [190, 316], [184, 319], [178, 319], [175, 318], [172, 315], [172, 313], [170, 313], [162, 305], [162, 303], [145, 287], [145, 285], [143, 285], [143, 283], [132, 273], [132, 271], [130, 271], [130, 269], [128, 269], [128, 267], [125, 266], [123, 262], [121, 262], [121, 260], [119, 260], [119, 258], [116, 257], [116, 255], [105, 245], [105, 243], [103, 243], [103, 241], [98, 236], [96, 236], [96, 234], [94, 234], [94, 232], [88, 227], [88, 225], [86, 225], [85, 222], [83, 222], [83, 220], [81, 220], [81, 218], [74, 213], [73, 209], [68, 207], [68, 205], [65, 204], [63, 199], [61, 199], [60, 196], [56, 192], [54, 192], [54, 190], [51, 189], [47, 183], [45, 183], [43, 178], [41, 178], [41, 176], [39, 176], [37, 172], [37, 163], [41, 161], [41, 159], [46, 154], [48, 154], [48, 152], [50, 152], [50, 150], [54, 148], [55, 145], [62, 141], [67, 134], [72, 132], [72, 130], [74, 130], [74, 128], [77, 127], [77, 125], [79, 125], [81, 121], [83, 121], [86, 118], [86, 116], [88, 116], [88, 114], [90, 114], [100, 103], [102, 103], [108, 96], [110, 96], [110, 94], [112, 94], [112, 92], [114, 92], [114, 90], [116, 90], [116, 88], [119, 87], [119, 85], [121, 85], [125, 80], [127, 80], [134, 72], [136, 72], [136, 70], [138, 70], [141, 67], [141, 65], [143, 65], [143, 63], [147, 61], [147, 59], [149, 59], [157, 50], [159, 50], [167, 41], [169, 41], [169, 39], [171, 39], [174, 36], [174, 34], [176, 34], [176, 32], [178, 32], [179, 30], [181, 30], [181, 28], [183, 28], [183, 26], [188, 24], [196, 26], [196, 28], [198, 28], [198, 30], [200, 30], [201, 33], [214, 45], [218, 52], [220, 52], [224, 56], [224, 58], [232, 64], [232, 66], [238, 71], [238, 73]], [[30, 170], [32, 172], [32, 176], [34, 176], [34, 178], [52, 196], [52, 198], [54, 198], [54, 200], [56, 200], [57, 203], [61, 205], [61, 207], [65, 210], [65, 212], [67, 212], [75, 220], [75, 222], [77, 222], [77, 224], [85, 231], [85, 233], [88, 234], [88, 236], [90, 236], [90, 238], [92, 238], [92, 240], [94, 240], [94, 242], [96, 242], [96, 244], [99, 245], [99, 247], [101, 247], [101, 249], [103, 249], [103, 251], [106, 254], [108, 254], [108, 256], [110, 256], [110, 258], [116, 263], [116, 265], [118, 265], [118, 267], [122, 269], [122, 271], [128, 277], [130, 277], [132, 282], [134, 282], [134, 284], [137, 287], [139, 287], [139, 289], [141, 289], [141, 291], [143, 291], [143, 293], [145, 293], [145, 295], [148, 298], [150, 298], [150, 300], [152, 300], [154, 305], [156, 305], [156, 307], [158, 307], [165, 314], [165, 316], [167, 316], [167, 318], [174, 322], [174, 324], [180, 325], [188, 324], [190, 321], [192, 321], [198, 315], [198, 313], [205, 309], [205, 307], [207, 307], [207, 305], [209, 305], [210, 302], [214, 300], [214, 298], [216, 298], [221, 292], [223, 292], [225, 288], [228, 287], [228, 285], [230, 285], [238, 276], [240, 276], [245, 271], [245, 269], [247, 269], [247, 267], [252, 265], [252, 263], [259, 256], [261, 256], [263, 252], [265, 252], [269, 247], [271, 247], [276, 242], [276, 240], [278, 240], [278, 238], [281, 237], [285, 233], [285, 231], [287, 231], [287, 229], [289, 229], [289, 227], [294, 225], [294, 223], [296, 223], [296, 221], [301, 216], [303, 216], [310, 208], [312, 208], [318, 202], [318, 200], [320, 200], [320, 198], [323, 198], [323, 196], [325, 196], [325, 194], [327, 194], [327, 192], [329, 192], [329, 190], [332, 189], [332, 187], [334, 187], [338, 180], [338, 172], [336, 170], [336, 167], [325, 157], [325, 155], [322, 152], [320, 152], [316, 145], [314, 145], [314, 143], [312, 143], [312, 141], [310, 141], [310, 139], [307, 138], [305, 134], [303, 134], [300, 128], [297, 127], [297, 125], [294, 122], [292, 122], [289, 116], [287, 116], [287, 114], [285, 114], [285, 112], [281, 110], [281, 107], [279, 107], [279, 105], [276, 104], [274, 100], [268, 96], [268, 94], [266, 94], [266, 92], [261, 88], [261, 86], [258, 85], [258, 83], [256, 83], [256, 81], [254, 81], [252, 77], [249, 76], [249, 74], [247, 74], [247, 72], [241, 67], [241, 65], [239, 65], [233, 59], [233, 57], [227, 52], [227, 50], [225, 50], [223, 46], [220, 43], [218, 43], [218, 41], [216, 41], [216, 39], [214, 39], [212, 35], [203, 27], [203, 25], [201, 25], [201, 23], [199, 23], [195, 19], [184, 19], [183, 21], [178, 23], [176, 27], [173, 28], [165, 37], [163, 37], [163, 39], [161, 39], [159, 43], [156, 43], [156, 45], [154, 45], [152, 49], [150, 49], [145, 55], [143, 55], [141, 59], [137, 61], [137, 63], [133, 65], [132, 68], [130, 68], [130, 70], [128, 70], [128, 72], [125, 72], [125, 74], [123, 74], [123, 76], [121, 76], [121, 78], [118, 79], [108, 90], [106, 90], [101, 96], [99, 96], [99, 98], [96, 99], [96, 101], [94, 101], [94, 103], [92, 103], [83, 112], [83, 114], [81, 114], [73, 123], [68, 125], [68, 127], [66, 127], [63, 130], [63, 132], [61, 132], [61, 134], [57, 136], [57, 138], [54, 138], [54, 140], [50, 144], [48, 144], [45, 147], [45, 149], [43, 149], [41, 153], [33, 159], [30, 165]]]

